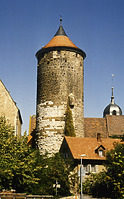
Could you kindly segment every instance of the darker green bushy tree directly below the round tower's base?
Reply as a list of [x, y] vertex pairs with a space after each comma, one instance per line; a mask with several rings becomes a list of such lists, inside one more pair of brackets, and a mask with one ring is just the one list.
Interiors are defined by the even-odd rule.
[[45, 158], [43, 169], [40, 175], [41, 187], [43, 194], [51, 193], [55, 195], [55, 184], [56, 180], [61, 185], [61, 188], [57, 190], [58, 195], [68, 196], [70, 195], [70, 182], [68, 175], [70, 172], [69, 166], [65, 163], [64, 159], [60, 156], [59, 153], [55, 154], [53, 157]]

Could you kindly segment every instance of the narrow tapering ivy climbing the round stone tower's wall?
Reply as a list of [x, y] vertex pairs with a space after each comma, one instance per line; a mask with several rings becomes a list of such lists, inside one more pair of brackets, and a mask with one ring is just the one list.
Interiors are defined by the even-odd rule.
[[65, 131], [64, 134], [66, 136], [75, 137], [75, 131], [74, 131], [74, 125], [73, 125], [73, 117], [72, 117], [72, 111], [70, 109], [69, 104], [67, 103], [67, 110], [65, 113]]

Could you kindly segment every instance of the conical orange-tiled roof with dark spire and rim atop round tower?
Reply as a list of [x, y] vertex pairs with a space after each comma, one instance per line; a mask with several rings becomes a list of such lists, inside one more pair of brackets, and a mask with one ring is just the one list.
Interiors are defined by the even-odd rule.
[[40, 59], [41, 55], [45, 52], [49, 52], [52, 50], [71, 50], [78, 52], [83, 56], [83, 58], [86, 57], [86, 54], [83, 50], [78, 48], [67, 36], [65, 33], [65, 30], [62, 27], [62, 19], [60, 19], [60, 26], [59, 29], [57, 30], [56, 34], [54, 37], [51, 39], [51, 41], [46, 44], [44, 47], [42, 47], [37, 53], [36, 57], [37, 59]]

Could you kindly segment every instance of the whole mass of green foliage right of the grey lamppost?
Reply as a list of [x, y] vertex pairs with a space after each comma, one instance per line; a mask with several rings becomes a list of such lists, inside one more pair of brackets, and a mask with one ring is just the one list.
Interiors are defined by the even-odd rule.
[[84, 193], [97, 197], [124, 198], [124, 144], [107, 152], [106, 170], [91, 174], [83, 184]]

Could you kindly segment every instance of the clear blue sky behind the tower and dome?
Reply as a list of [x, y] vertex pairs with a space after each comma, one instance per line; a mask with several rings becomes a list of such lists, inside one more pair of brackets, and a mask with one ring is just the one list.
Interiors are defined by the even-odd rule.
[[36, 112], [37, 60], [59, 27], [85, 51], [84, 116], [102, 117], [110, 103], [124, 112], [124, 0], [0, 0], [0, 79], [23, 118]]

